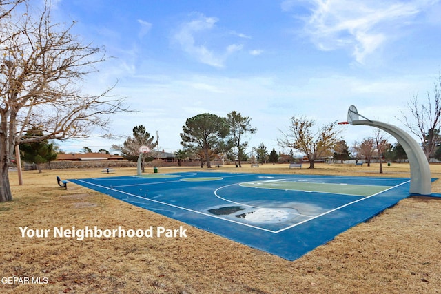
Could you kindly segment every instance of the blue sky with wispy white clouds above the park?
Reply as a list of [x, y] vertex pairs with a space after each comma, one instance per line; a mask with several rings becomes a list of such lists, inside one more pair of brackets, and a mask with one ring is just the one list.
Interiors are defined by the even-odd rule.
[[[185, 120], [235, 110], [258, 130], [249, 150], [288, 152], [277, 139], [293, 116], [316, 128], [346, 121], [347, 109], [402, 127], [413, 96], [433, 93], [441, 72], [438, 0], [58, 0], [54, 21], [103, 46], [99, 73], [85, 78], [95, 94], [116, 83], [133, 113], [112, 116], [116, 139], [59, 142], [63, 151], [110, 150], [136, 125], [159, 135], [159, 148], [182, 149]], [[341, 126], [349, 146], [373, 136]], [[99, 135], [99, 133], [96, 133]], [[390, 137], [391, 143], [396, 140]]]

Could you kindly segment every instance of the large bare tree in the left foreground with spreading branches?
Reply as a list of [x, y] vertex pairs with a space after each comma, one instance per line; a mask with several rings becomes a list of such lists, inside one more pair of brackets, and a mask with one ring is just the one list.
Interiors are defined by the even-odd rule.
[[[50, 4], [0, 19], [0, 202], [12, 200], [8, 167], [14, 146], [47, 139], [79, 138], [95, 127], [108, 130], [109, 114], [125, 111], [121, 98], [82, 92], [82, 81], [105, 61], [103, 48], [83, 44], [70, 25], [51, 21]], [[24, 138], [26, 130], [41, 136]]]

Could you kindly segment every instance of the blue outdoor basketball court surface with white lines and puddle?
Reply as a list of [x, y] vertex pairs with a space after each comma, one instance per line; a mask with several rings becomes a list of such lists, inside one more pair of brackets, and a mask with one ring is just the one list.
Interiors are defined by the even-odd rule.
[[287, 260], [407, 198], [410, 183], [211, 171], [69, 181]]

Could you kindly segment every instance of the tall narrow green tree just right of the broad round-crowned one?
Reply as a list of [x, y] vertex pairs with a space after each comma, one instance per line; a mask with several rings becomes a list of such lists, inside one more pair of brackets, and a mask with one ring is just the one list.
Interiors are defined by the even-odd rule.
[[242, 116], [236, 111], [232, 111], [227, 114], [227, 123], [229, 125], [229, 136], [236, 149], [236, 156], [238, 159], [239, 167], [242, 167], [241, 160], [245, 155], [245, 149], [247, 149], [248, 142], [243, 140], [245, 134], [256, 134], [257, 129], [251, 126], [251, 118]]

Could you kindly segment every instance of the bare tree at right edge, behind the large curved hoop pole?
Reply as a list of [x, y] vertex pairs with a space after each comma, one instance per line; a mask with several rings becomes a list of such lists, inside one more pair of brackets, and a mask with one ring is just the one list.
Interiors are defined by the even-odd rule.
[[435, 152], [440, 142], [441, 127], [441, 74], [434, 83], [433, 96], [427, 92], [426, 102], [421, 103], [418, 94], [407, 103], [413, 120], [401, 112], [402, 118], [398, 118], [418, 138], [422, 145], [427, 160]]

